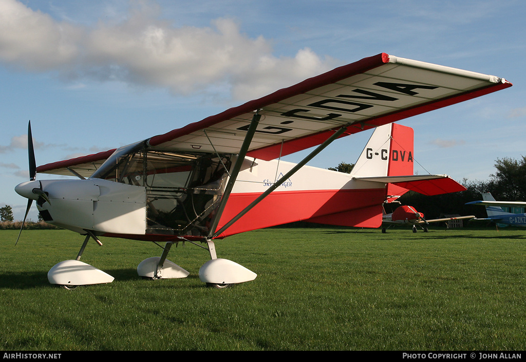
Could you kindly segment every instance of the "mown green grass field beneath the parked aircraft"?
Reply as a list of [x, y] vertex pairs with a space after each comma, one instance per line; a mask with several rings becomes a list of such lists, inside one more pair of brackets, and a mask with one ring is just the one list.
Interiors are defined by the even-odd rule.
[[3, 350], [524, 350], [526, 230], [274, 228], [216, 243], [258, 274], [207, 288], [209, 256], [169, 259], [185, 279], [144, 280], [152, 243], [102, 238], [82, 261], [115, 277], [65, 290], [47, 281], [84, 237], [0, 231]]

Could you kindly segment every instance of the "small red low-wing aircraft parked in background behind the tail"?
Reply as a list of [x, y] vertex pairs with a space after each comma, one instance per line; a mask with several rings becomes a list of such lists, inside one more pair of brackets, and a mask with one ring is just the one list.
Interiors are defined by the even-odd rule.
[[413, 225], [413, 233], [417, 232], [417, 226], [419, 226], [427, 233], [429, 231], [429, 224], [443, 223], [449, 220], [466, 220], [474, 217], [474, 215], [469, 215], [426, 220], [424, 214], [419, 213], [413, 206], [400, 205], [392, 213], [382, 216], [382, 233], [386, 233], [389, 227], [395, 225]]

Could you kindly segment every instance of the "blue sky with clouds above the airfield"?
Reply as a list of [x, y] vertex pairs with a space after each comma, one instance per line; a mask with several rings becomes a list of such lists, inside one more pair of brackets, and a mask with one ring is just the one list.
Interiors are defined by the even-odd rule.
[[[524, 18], [522, 0], [0, 0], [0, 207], [24, 217], [14, 187], [29, 179], [29, 120], [43, 165], [164, 134], [379, 53], [513, 84], [399, 122], [414, 129], [415, 173], [488, 180], [495, 160], [526, 155]], [[309, 165], [355, 163], [370, 135], [337, 140]]]

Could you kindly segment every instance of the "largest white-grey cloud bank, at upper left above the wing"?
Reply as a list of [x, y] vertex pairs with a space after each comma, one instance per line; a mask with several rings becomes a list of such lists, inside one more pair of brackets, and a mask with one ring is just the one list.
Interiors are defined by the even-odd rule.
[[58, 22], [15, 0], [0, 4], [0, 62], [28, 71], [54, 71], [75, 84], [82, 79], [164, 87], [174, 94], [227, 90], [247, 100], [328, 71], [336, 65], [310, 49], [295, 57], [272, 55], [262, 36], [216, 19], [209, 27], [174, 27], [160, 8], [134, 3], [118, 22], [92, 27]]

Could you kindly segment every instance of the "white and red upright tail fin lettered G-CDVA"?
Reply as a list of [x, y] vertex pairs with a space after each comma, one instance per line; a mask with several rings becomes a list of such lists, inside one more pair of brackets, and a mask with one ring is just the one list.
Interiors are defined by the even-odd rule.
[[[355, 177], [413, 175], [413, 129], [391, 123], [377, 127], [351, 174]], [[388, 184], [387, 195], [401, 196], [408, 189]]]

